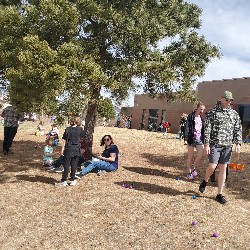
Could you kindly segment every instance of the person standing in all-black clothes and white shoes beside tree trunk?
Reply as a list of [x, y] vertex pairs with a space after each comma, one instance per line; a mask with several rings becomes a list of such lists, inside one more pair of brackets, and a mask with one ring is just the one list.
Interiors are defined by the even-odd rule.
[[81, 119], [79, 117], [71, 118], [70, 127], [66, 128], [63, 134], [63, 146], [61, 150], [61, 155], [65, 156], [64, 161], [64, 171], [62, 174], [62, 179], [57, 186], [67, 186], [67, 178], [70, 172], [70, 186], [75, 186], [75, 173], [79, 157], [81, 156], [81, 138], [83, 138], [83, 129], [81, 127]]

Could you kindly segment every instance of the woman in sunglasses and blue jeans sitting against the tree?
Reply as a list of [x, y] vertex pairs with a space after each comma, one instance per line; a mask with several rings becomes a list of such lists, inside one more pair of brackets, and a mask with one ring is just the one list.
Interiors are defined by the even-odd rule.
[[111, 135], [105, 135], [101, 139], [101, 146], [105, 146], [102, 154], [95, 155], [98, 160], [92, 160], [76, 178], [81, 179], [82, 176], [89, 172], [98, 172], [105, 170], [106, 172], [114, 172], [118, 168], [118, 147], [114, 144]]

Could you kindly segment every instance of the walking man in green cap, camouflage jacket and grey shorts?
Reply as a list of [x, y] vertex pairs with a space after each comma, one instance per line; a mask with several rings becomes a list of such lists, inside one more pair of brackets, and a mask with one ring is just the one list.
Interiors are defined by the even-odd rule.
[[199, 191], [201, 193], [205, 191], [208, 179], [218, 164], [218, 194], [215, 199], [221, 204], [227, 202], [225, 197], [222, 196], [222, 191], [226, 179], [227, 164], [231, 160], [232, 144], [236, 145], [235, 151], [239, 154], [242, 143], [240, 117], [231, 108], [233, 100], [232, 93], [225, 91], [222, 98], [207, 113], [205, 118], [204, 152], [209, 155], [209, 165], [206, 169], [205, 178], [200, 184]]

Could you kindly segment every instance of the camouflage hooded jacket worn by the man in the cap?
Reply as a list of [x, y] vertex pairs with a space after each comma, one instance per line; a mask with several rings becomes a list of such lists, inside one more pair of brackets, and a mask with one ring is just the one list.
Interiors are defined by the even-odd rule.
[[222, 108], [220, 101], [205, 118], [204, 143], [231, 146], [242, 143], [242, 126], [238, 113], [230, 106]]

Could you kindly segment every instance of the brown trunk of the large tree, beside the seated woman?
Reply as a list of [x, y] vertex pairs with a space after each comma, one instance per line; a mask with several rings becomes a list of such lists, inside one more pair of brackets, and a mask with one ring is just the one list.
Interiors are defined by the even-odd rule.
[[90, 154], [92, 155], [92, 145], [93, 145], [93, 134], [95, 130], [96, 118], [97, 118], [97, 106], [98, 99], [100, 95], [100, 90], [96, 91], [92, 99], [88, 102], [87, 114], [85, 118], [84, 132], [88, 135], [88, 143]]

